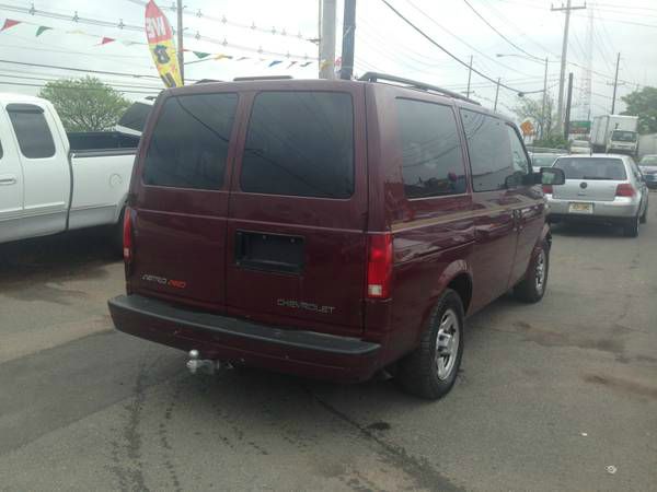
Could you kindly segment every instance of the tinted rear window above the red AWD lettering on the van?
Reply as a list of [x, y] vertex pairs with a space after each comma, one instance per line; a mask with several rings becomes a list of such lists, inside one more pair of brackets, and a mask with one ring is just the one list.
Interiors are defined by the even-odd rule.
[[220, 189], [237, 105], [237, 94], [166, 99], [146, 154], [143, 183]]

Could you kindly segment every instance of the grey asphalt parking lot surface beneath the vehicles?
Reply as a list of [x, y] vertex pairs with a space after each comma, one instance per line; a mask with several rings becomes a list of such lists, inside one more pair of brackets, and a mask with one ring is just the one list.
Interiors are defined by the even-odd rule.
[[[0, 246], [0, 489], [657, 487], [657, 195], [638, 238], [554, 227], [549, 291], [469, 320], [452, 393], [186, 373], [113, 331], [99, 233]], [[613, 467], [613, 468], [608, 468]]]

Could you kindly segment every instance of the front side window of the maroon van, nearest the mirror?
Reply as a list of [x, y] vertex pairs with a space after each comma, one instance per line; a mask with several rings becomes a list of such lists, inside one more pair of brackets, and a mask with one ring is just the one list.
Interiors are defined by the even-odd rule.
[[474, 191], [505, 189], [514, 174], [511, 149], [506, 125], [497, 118], [461, 109], [468, 139]]

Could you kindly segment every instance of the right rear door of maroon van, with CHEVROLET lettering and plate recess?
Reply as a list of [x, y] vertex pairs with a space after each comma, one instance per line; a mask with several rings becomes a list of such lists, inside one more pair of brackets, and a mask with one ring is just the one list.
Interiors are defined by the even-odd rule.
[[250, 95], [250, 121], [233, 174], [228, 312], [279, 326], [360, 332], [364, 86], [268, 86], [280, 90]]

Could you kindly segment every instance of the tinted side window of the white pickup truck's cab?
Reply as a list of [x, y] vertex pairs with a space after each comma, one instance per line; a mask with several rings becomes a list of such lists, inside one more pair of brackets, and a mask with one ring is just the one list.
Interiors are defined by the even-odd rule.
[[7, 112], [16, 132], [21, 153], [25, 157], [46, 159], [55, 155], [53, 134], [41, 107], [32, 104], [9, 104]]

